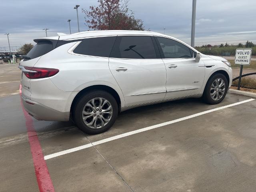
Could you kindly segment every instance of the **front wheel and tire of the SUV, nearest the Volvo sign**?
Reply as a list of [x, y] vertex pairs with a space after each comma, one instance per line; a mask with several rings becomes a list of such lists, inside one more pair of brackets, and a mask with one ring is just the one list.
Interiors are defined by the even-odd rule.
[[[224, 84], [222, 84], [224, 83]], [[228, 92], [228, 80], [223, 74], [215, 74], [210, 77], [204, 88], [203, 99], [208, 104], [222, 102]]]

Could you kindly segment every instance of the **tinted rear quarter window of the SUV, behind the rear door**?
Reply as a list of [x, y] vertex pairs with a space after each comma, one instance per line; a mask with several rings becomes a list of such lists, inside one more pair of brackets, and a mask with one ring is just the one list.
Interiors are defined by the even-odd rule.
[[116, 36], [87, 38], [82, 40], [73, 52], [82, 55], [109, 57], [115, 40]]

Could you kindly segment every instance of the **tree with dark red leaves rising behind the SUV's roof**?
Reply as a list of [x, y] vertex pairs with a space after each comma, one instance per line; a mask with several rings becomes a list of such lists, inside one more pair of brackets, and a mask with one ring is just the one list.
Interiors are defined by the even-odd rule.
[[93, 30], [144, 30], [143, 21], [134, 18], [128, 9], [129, 0], [98, 0], [98, 6], [90, 6], [85, 13], [85, 24]]

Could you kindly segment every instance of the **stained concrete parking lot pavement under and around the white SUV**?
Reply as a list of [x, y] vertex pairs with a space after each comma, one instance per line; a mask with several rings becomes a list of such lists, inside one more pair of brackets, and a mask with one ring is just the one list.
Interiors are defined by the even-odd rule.
[[256, 100], [245, 96], [134, 108], [98, 135], [35, 120], [19, 95], [0, 106], [0, 191], [256, 190]]

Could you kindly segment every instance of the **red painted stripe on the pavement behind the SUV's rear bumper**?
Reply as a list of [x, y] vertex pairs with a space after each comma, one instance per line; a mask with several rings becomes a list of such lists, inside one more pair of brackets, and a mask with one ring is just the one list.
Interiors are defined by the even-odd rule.
[[[20, 86], [20, 94], [21, 94], [21, 86]], [[32, 117], [26, 112], [24, 106], [22, 104], [22, 98], [20, 95], [20, 102], [22, 106], [22, 110], [24, 113], [24, 117], [26, 119], [26, 128], [28, 131], [28, 141], [30, 144], [30, 151], [32, 154], [34, 168], [36, 173], [36, 180], [38, 183], [38, 187], [40, 192], [54, 192], [54, 186], [52, 184], [51, 176], [48, 171], [48, 167], [44, 160], [44, 154], [42, 152], [42, 148], [40, 142], [38, 140], [38, 136], [36, 134], [36, 130], [34, 129], [34, 124]]]

